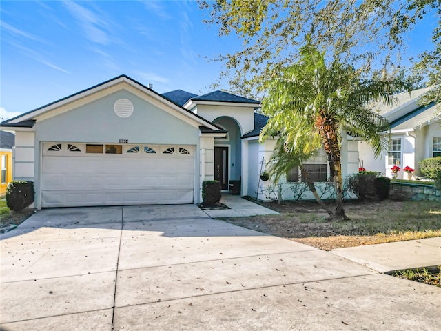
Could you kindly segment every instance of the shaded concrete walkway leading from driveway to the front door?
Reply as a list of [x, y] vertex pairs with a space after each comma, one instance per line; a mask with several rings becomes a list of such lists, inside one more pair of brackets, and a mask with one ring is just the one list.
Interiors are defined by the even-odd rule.
[[223, 203], [229, 209], [204, 210], [205, 214], [212, 218], [278, 214], [278, 212], [265, 208], [263, 205], [258, 205], [257, 203], [245, 200], [239, 195], [232, 195], [225, 192], [222, 193], [220, 203]]

